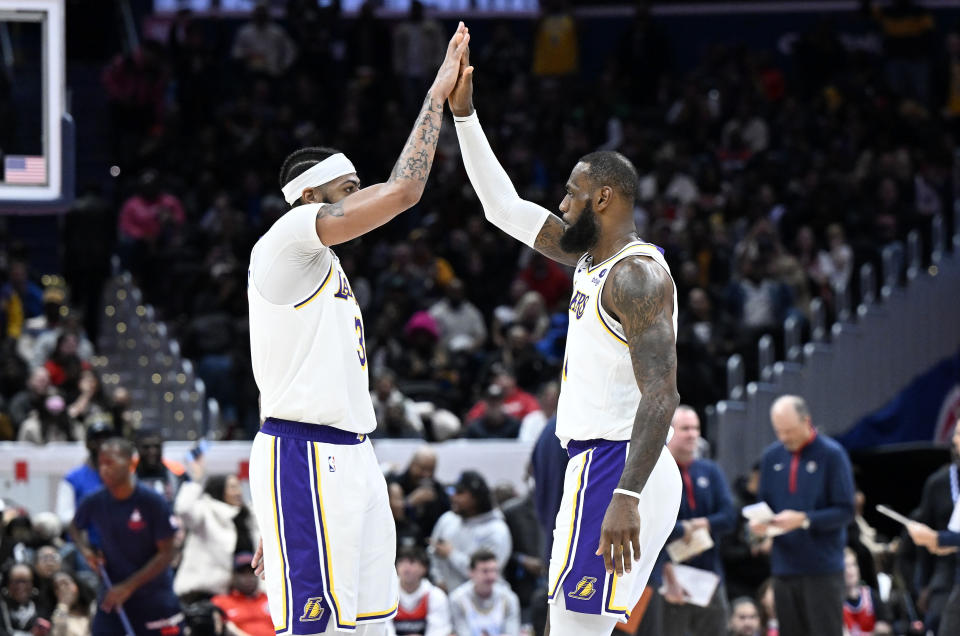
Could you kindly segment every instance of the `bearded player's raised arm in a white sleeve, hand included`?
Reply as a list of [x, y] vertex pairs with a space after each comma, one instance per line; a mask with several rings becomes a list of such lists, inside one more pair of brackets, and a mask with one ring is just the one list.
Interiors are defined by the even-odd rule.
[[566, 224], [546, 208], [520, 198], [497, 161], [473, 108], [473, 67], [469, 49], [460, 61], [460, 76], [450, 93], [450, 110], [457, 126], [463, 166], [491, 223], [547, 258], [576, 265], [582, 254], [560, 248]]

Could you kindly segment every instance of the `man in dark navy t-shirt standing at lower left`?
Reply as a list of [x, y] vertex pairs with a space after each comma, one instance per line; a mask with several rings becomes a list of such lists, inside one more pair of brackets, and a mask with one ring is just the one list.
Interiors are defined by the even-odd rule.
[[[183, 614], [173, 593], [173, 533], [167, 502], [133, 472], [134, 447], [113, 438], [97, 456], [104, 488], [77, 507], [70, 535], [93, 569], [105, 568], [113, 586], [104, 594], [93, 619], [93, 633], [121, 633], [119, 605], [138, 634], [182, 633]], [[83, 528], [100, 534], [102, 557], [93, 551]], [[150, 627], [148, 627], [148, 624]]]

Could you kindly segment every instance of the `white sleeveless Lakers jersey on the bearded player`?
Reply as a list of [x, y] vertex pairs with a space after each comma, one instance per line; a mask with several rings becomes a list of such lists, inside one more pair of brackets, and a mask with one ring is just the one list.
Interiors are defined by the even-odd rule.
[[[557, 405], [557, 437], [564, 448], [571, 439], [629, 440], [640, 404], [627, 338], [600, 300], [610, 270], [621, 260], [642, 255], [670, 267], [656, 246], [634, 241], [607, 260], [577, 263], [570, 300], [570, 326]], [[672, 277], [671, 277], [672, 280]], [[677, 288], [673, 288], [673, 333], [677, 333]]]

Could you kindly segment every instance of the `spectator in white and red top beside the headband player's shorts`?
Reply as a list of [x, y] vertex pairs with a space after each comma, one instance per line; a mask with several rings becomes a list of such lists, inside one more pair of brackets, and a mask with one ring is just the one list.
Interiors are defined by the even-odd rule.
[[430, 559], [419, 546], [397, 552], [400, 605], [392, 624], [397, 636], [450, 636], [450, 606], [443, 590], [427, 579]]

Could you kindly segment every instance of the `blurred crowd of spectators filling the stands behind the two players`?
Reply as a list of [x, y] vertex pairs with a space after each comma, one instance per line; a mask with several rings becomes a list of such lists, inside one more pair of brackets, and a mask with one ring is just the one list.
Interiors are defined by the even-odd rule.
[[[117, 198], [79, 193], [64, 234], [65, 280], [41, 280], [16, 241], [0, 245], [0, 439], [137, 436], [129, 393], [105, 392], [91, 364], [111, 253], [195, 361], [221, 405], [224, 434], [256, 431], [246, 264], [286, 209], [278, 167], [298, 147], [325, 145], [347, 153], [364, 183], [385, 179], [449, 30], [416, 2], [399, 21], [379, 18], [370, 3], [348, 19], [335, 5], [291, 0], [288, 15], [297, 19], [258, 9], [230, 32], [182, 12], [166, 40], [146, 40], [105, 65], [111, 158], [125, 175]], [[834, 312], [837, 294], [858, 284], [860, 264], [877, 263], [912, 229], [927, 236], [934, 216], [949, 220], [960, 31], [910, 2], [883, 10], [864, 2], [858, 16], [879, 33], [882, 53], [850, 46], [824, 18], [800, 34], [789, 67], [769, 51], [717, 44], [680, 70], [645, 5], [608, 41], [599, 73], [581, 72], [582, 25], [559, 3], [544, 4], [531, 38], [504, 21], [473, 39], [477, 110], [521, 196], [556, 210], [577, 158], [597, 148], [637, 166], [640, 235], [664, 248], [677, 283], [679, 390], [701, 413], [725, 394], [727, 356], [743, 354], [755, 374], [761, 334], [782, 347], [786, 317], [809, 327], [812, 298]], [[336, 251], [367, 316], [375, 437], [533, 441], [549, 431], [570, 272], [486, 223], [452, 126], [422, 201]], [[472, 580], [468, 549], [465, 569], [447, 572], [447, 582], [417, 550], [435, 551], [443, 537], [429, 538], [438, 532], [466, 536], [464, 520], [505, 524], [506, 540], [491, 552], [523, 621], [535, 622], [546, 553], [530, 525], [530, 496], [466, 474], [448, 497], [418, 461], [390, 480], [410, 569], [423, 565], [452, 592]], [[171, 480], [174, 505], [180, 481], [193, 482]], [[734, 481], [738, 506], [756, 500], [756, 481]], [[71, 565], [62, 525], [5, 514], [0, 562], [21, 565], [5, 569], [0, 603], [82, 614], [96, 581], [84, 579], [76, 558]], [[861, 521], [851, 535], [892, 571], [889, 546]], [[769, 615], [759, 587], [768, 565], [742, 520], [737, 526], [722, 547], [729, 596], [756, 597], [759, 614]], [[952, 557], [927, 563], [904, 545], [912, 596], [897, 607], [909, 628], [938, 611], [953, 570]], [[859, 556], [861, 574], [875, 580], [873, 560]], [[733, 615], [739, 607], [746, 603], [734, 603]]]

